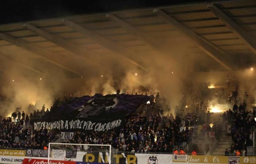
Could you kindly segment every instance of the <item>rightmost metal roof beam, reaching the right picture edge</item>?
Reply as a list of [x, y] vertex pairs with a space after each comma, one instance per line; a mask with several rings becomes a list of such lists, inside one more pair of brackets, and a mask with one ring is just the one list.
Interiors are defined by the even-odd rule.
[[228, 17], [215, 4], [208, 4], [207, 7], [219, 17], [219, 19], [234, 33], [238, 38], [244, 41], [256, 55], [256, 40], [248, 34], [242, 27], [240, 27], [234, 20]]

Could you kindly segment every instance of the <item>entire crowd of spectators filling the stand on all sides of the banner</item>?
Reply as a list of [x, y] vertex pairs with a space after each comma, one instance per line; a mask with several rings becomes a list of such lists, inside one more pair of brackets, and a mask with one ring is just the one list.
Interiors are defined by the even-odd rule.
[[[205, 87], [203, 87], [205, 90]], [[203, 91], [200, 95], [207, 94]], [[223, 95], [223, 91], [222, 91]], [[62, 101], [55, 99], [53, 107], [65, 104], [69, 98]], [[204, 108], [204, 101], [192, 106], [192, 113], [185, 113], [186, 96], [183, 95], [180, 106], [176, 106], [174, 118], [170, 114], [170, 108], [166, 105], [166, 99], [159, 93], [150, 104], [144, 104], [140, 111], [130, 114], [125, 118], [121, 129], [113, 129], [109, 132], [75, 132], [74, 136], [66, 141], [78, 144], [111, 144], [120, 152], [165, 152], [172, 153], [174, 149], [186, 147], [194, 136], [193, 129], [201, 125], [201, 133], [209, 138], [221, 137], [221, 126], [210, 126], [211, 113]], [[242, 151], [252, 144], [252, 132], [255, 125], [255, 112], [246, 112], [246, 103], [233, 106], [223, 114], [223, 125], [228, 129], [227, 134], [232, 137], [233, 145], [230, 152]], [[0, 141], [3, 148], [33, 148], [43, 149], [48, 142], [57, 139], [57, 133], [47, 129], [33, 132], [30, 122], [40, 119], [45, 113], [45, 105], [41, 110], [29, 105], [30, 114], [19, 112], [20, 108], [12, 113], [12, 118], [3, 118], [0, 121]], [[34, 111], [33, 111], [34, 110]], [[33, 111], [33, 112], [32, 112]], [[165, 111], [165, 112], [164, 112]], [[169, 113], [169, 114], [166, 114]], [[211, 136], [213, 134], [214, 136]], [[244, 134], [244, 135], [243, 135]], [[78, 149], [89, 149], [78, 147]]]

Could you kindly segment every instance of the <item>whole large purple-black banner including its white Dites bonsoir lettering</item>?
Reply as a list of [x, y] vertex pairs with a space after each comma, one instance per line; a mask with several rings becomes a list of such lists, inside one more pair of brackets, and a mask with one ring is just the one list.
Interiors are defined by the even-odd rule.
[[102, 132], [120, 128], [124, 117], [150, 100], [147, 95], [112, 94], [72, 98], [57, 106], [40, 120], [33, 120], [34, 130], [60, 132]]

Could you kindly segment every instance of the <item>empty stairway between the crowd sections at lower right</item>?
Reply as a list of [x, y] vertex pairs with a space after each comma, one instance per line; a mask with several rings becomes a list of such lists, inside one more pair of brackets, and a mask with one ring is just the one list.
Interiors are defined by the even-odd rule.
[[223, 136], [219, 140], [218, 146], [212, 154], [223, 155], [226, 149], [230, 149], [231, 145], [232, 145], [232, 138]]

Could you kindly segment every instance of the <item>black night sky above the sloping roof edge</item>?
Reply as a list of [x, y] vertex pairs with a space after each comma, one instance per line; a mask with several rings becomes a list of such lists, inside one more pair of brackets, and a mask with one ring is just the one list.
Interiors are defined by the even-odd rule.
[[3, 0], [0, 4], [0, 24], [191, 2], [195, 0]]

